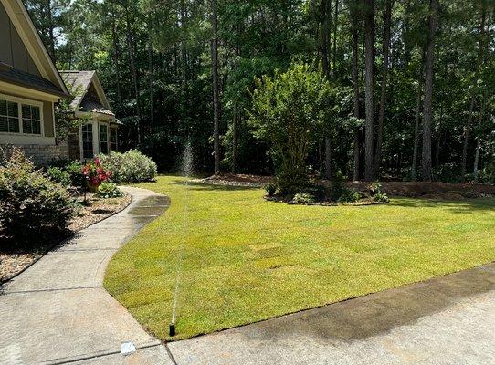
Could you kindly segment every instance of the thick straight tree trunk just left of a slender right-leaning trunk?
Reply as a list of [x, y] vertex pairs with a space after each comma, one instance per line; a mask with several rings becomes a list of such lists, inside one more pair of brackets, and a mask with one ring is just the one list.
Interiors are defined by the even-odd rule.
[[374, 0], [364, 0], [365, 146], [364, 180], [374, 179]]

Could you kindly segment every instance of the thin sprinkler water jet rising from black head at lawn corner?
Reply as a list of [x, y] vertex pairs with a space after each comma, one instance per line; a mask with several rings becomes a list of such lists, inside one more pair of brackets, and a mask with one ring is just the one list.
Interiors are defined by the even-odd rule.
[[176, 320], [176, 309], [177, 300], [179, 297], [179, 284], [181, 281], [183, 263], [184, 263], [184, 251], [185, 251], [185, 237], [188, 234], [188, 219], [189, 214], [187, 211], [187, 204], [189, 199], [189, 178], [193, 174], [193, 151], [191, 149], [191, 143], [187, 142], [184, 149], [183, 159], [182, 159], [182, 175], [185, 177], [185, 189], [184, 189], [184, 239], [182, 241], [181, 247], [179, 247], [179, 255], [177, 257], [177, 273], [175, 276], [175, 289], [174, 289], [174, 303], [172, 306], [172, 321], [168, 327], [168, 334], [171, 337], [175, 336], [175, 320]]

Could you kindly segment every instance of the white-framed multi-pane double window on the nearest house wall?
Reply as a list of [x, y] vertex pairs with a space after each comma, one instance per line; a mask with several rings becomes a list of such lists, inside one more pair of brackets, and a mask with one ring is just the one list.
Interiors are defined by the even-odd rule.
[[0, 95], [0, 133], [41, 136], [42, 103]]

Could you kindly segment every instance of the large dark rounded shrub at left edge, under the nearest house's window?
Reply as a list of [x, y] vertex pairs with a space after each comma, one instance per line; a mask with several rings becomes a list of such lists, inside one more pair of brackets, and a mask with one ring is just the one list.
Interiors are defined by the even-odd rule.
[[47, 229], [67, 227], [73, 213], [67, 190], [35, 170], [18, 149], [0, 166], [0, 235], [16, 244], [39, 241]]

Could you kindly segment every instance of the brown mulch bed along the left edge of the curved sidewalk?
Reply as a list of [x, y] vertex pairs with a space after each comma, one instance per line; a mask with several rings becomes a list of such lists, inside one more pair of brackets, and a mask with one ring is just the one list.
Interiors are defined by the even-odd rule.
[[[84, 201], [83, 195], [76, 196], [78, 203]], [[91, 224], [116, 214], [131, 203], [132, 197], [125, 194], [121, 198], [98, 199], [91, 193], [87, 194], [86, 203], [80, 204], [76, 216], [68, 225], [68, 229], [58, 232], [57, 235], [50, 235], [40, 238], [40, 244], [31, 250], [16, 250], [11, 252], [0, 252], [0, 284], [16, 276], [26, 267], [31, 266], [41, 256], [57, 245], [61, 240], [67, 239], [76, 232]]]

